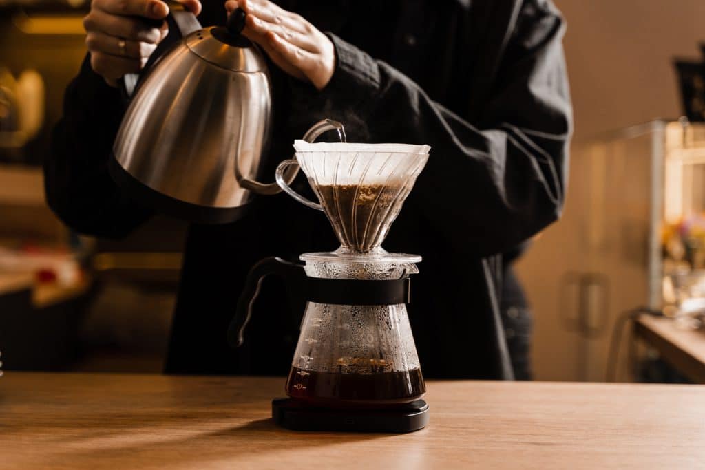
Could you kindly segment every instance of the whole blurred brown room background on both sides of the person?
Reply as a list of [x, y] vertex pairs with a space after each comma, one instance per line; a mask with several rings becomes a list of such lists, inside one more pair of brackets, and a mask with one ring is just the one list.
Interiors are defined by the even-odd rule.
[[[564, 217], [517, 265], [534, 378], [705, 382], [705, 3], [555, 2], [575, 139]], [[185, 225], [155, 218], [93, 240], [44, 202], [40, 165], [85, 55], [87, 7], [0, 0], [1, 360], [160, 372]]]

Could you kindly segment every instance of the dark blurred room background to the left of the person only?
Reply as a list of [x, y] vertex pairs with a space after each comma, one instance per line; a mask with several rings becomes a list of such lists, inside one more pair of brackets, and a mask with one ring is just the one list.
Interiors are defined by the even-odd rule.
[[83, 0], [0, 1], [0, 350], [4, 369], [160, 372], [185, 225], [110, 242], [44, 202], [41, 162], [85, 56]]

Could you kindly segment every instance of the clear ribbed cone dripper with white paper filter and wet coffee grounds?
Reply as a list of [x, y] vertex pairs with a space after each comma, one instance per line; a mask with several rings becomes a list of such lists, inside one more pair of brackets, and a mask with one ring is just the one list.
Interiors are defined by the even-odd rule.
[[[430, 148], [296, 140], [296, 159], [279, 165], [277, 183], [299, 202], [325, 212], [341, 242], [338, 252], [378, 252], [426, 165]], [[293, 164], [304, 171], [321, 204], [309, 201], [288, 186], [284, 170]]]

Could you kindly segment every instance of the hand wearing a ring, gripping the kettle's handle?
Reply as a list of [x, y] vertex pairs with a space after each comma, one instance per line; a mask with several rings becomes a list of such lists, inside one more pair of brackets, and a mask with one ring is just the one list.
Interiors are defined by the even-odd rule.
[[[195, 15], [201, 12], [199, 0], [178, 1]], [[154, 27], [145, 18], [164, 20], [168, 13], [168, 6], [161, 0], [92, 0], [83, 27], [95, 73], [117, 87], [125, 73], [142, 70], [168, 33], [166, 22]]]

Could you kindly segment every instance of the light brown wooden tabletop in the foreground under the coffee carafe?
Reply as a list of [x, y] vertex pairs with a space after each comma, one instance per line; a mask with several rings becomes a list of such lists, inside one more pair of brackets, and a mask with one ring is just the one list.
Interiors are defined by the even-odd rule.
[[283, 378], [8, 372], [8, 469], [691, 469], [705, 386], [429, 382], [404, 435], [297, 433], [269, 419]]

